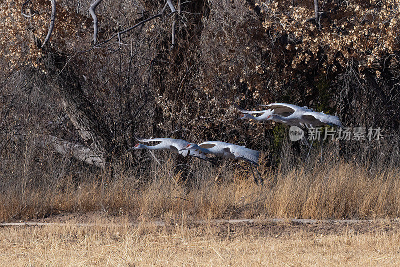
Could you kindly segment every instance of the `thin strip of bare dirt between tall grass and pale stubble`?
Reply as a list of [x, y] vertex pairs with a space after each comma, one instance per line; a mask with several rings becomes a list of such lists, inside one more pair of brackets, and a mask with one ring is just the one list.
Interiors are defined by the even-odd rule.
[[[102, 222], [99, 222], [102, 220]], [[119, 217], [107, 217], [101, 212], [73, 213], [47, 217], [36, 221], [29, 221], [29, 224], [6, 224], [0, 226], [45, 226], [60, 223], [76, 223], [78, 226], [102, 225], [105, 223], [129, 224], [138, 226], [141, 223], [154, 224], [163, 227], [167, 232], [175, 231], [181, 227], [182, 220], [163, 221], [155, 219], [138, 220], [133, 217], [125, 217], [123, 221]], [[34, 224], [38, 222], [39, 224]], [[216, 236], [229, 237], [243, 234], [247, 236], [271, 236], [285, 237], [293, 232], [302, 232], [309, 235], [329, 234], [362, 234], [368, 232], [384, 231], [397, 232], [400, 229], [400, 219], [394, 220], [309, 220], [309, 219], [214, 219], [214, 220], [193, 220], [183, 221], [183, 227], [196, 229], [200, 232], [212, 226]]]

